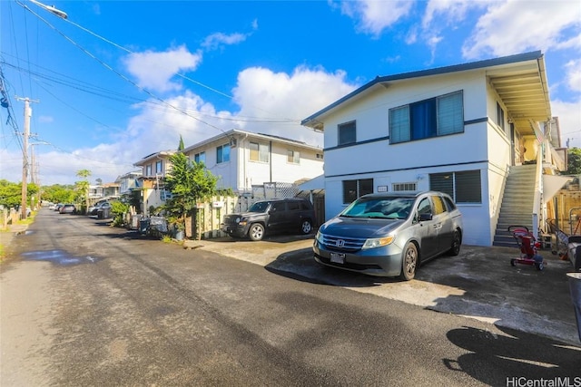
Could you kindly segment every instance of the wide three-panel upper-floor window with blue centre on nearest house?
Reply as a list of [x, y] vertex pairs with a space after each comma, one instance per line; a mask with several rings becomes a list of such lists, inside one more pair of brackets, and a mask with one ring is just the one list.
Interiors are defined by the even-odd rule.
[[389, 142], [428, 139], [464, 131], [462, 92], [389, 109]]

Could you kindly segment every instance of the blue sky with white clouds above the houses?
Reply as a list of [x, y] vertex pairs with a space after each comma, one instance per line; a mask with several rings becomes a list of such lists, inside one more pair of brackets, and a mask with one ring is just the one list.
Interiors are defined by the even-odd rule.
[[[0, 179], [113, 181], [158, 150], [241, 129], [323, 147], [300, 121], [376, 76], [545, 53], [562, 143], [581, 148], [581, 3], [0, 0]], [[13, 119], [15, 125], [6, 123]], [[20, 136], [21, 137], [21, 136]]]

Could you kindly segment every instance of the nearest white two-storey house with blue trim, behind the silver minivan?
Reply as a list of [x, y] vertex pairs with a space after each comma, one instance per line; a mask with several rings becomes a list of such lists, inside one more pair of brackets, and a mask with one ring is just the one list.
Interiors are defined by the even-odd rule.
[[301, 122], [324, 131], [326, 218], [369, 192], [436, 189], [456, 200], [468, 245], [501, 244], [513, 222], [544, 229], [554, 192], [541, 176], [566, 169], [548, 91], [534, 52], [350, 92]]

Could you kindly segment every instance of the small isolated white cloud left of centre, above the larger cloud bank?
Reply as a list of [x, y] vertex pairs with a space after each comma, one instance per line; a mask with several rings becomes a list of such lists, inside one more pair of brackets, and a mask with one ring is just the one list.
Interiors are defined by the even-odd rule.
[[156, 92], [178, 91], [181, 84], [171, 82], [176, 73], [195, 70], [202, 62], [202, 53], [190, 53], [182, 45], [162, 53], [145, 51], [130, 53], [123, 62], [127, 70], [137, 78], [137, 84]]

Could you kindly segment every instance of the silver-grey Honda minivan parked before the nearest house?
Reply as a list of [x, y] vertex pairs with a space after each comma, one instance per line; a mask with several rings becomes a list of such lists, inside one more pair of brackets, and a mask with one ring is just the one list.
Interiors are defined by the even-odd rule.
[[429, 259], [458, 255], [462, 227], [462, 214], [445, 193], [369, 194], [319, 228], [313, 252], [325, 266], [410, 280]]

